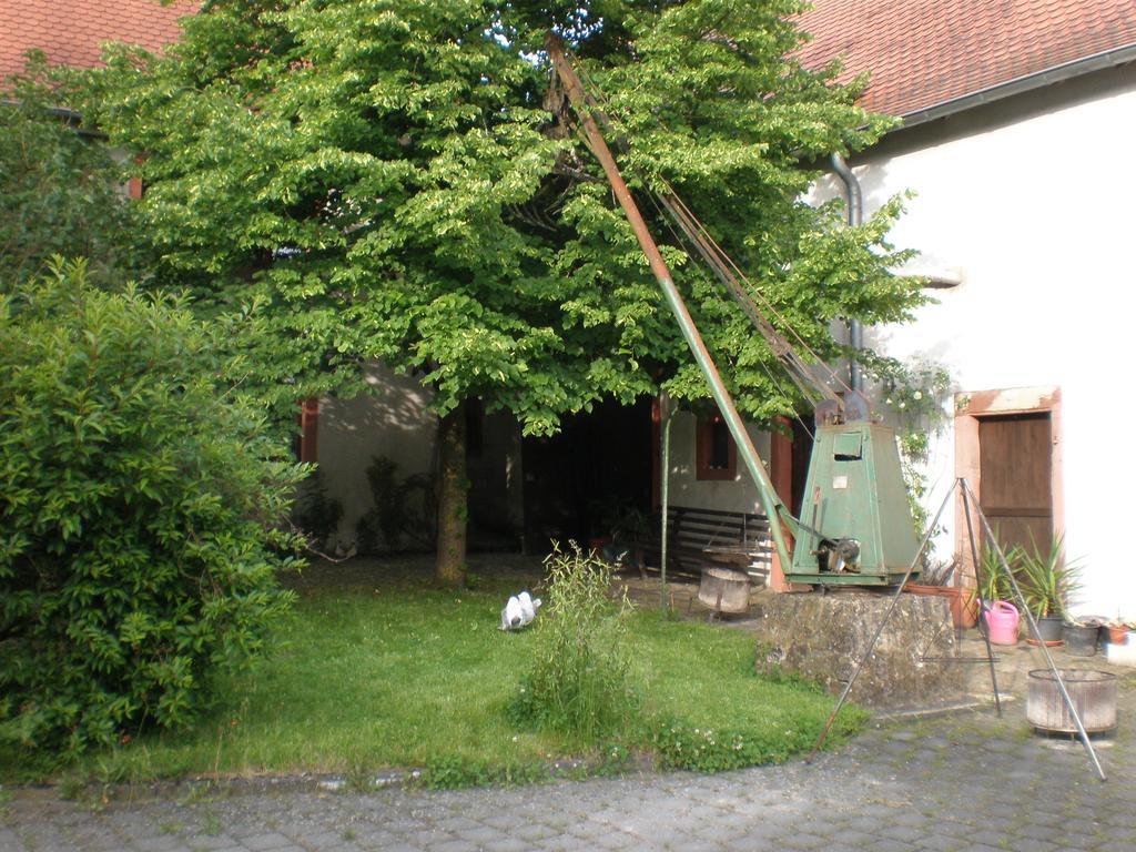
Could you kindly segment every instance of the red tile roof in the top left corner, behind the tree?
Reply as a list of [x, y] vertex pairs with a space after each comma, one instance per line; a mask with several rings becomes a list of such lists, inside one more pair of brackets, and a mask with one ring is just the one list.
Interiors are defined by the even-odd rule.
[[201, 0], [0, 0], [0, 77], [24, 67], [24, 52], [39, 48], [59, 65], [99, 62], [103, 42], [157, 50], [176, 41], [177, 19]]

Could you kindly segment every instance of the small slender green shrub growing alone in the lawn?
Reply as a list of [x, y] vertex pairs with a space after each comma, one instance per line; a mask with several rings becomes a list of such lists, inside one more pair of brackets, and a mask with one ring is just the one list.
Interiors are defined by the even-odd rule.
[[515, 720], [585, 744], [627, 732], [638, 718], [623, 604], [610, 567], [575, 544], [546, 560], [548, 600], [536, 620], [535, 663], [510, 705]]

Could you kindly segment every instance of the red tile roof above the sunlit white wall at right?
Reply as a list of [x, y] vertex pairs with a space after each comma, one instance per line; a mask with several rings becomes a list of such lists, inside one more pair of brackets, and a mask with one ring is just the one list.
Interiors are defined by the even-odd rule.
[[1017, 77], [1136, 44], [1133, 0], [813, 0], [801, 17], [820, 67], [869, 70], [861, 106], [904, 116]]

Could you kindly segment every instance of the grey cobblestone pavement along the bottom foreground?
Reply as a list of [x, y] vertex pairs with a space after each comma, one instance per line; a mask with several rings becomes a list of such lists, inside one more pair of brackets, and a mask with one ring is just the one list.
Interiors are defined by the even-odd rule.
[[0, 850], [1136, 851], [1136, 690], [1099, 741], [1033, 735], [1020, 702], [871, 727], [812, 766], [426, 793], [257, 792], [115, 802], [19, 792]]

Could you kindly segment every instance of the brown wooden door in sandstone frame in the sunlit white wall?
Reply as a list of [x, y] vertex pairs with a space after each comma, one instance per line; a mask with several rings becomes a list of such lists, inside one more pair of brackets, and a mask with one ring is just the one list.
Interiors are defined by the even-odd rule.
[[978, 421], [979, 495], [1003, 548], [1049, 550], [1053, 537], [1049, 412]]

